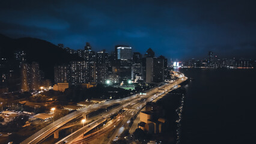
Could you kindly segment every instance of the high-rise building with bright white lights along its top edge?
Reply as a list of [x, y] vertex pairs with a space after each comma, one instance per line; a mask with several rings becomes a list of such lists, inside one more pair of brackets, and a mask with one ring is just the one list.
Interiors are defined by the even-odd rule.
[[116, 46], [115, 56], [120, 82], [130, 80], [132, 78], [132, 47]]

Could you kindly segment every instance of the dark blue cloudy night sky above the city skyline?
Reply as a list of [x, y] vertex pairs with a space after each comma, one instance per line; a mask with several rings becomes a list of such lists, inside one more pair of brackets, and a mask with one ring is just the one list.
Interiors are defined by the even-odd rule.
[[0, 33], [72, 49], [117, 44], [172, 59], [256, 58], [254, 1], [0, 1]]

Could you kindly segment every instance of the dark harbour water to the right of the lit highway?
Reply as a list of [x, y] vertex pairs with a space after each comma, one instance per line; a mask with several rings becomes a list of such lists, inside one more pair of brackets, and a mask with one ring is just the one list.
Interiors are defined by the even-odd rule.
[[255, 134], [250, 128], [255, 122], [255, 70], [178, 70], [194, 80], [183, 86], [186, 98], [178, 122], [177, 142], [249, 142]]

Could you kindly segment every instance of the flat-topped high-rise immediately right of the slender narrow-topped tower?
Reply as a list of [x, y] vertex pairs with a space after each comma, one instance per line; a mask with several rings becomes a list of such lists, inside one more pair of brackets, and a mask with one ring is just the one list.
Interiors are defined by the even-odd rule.
[[105, 50], [96, 53], [96, 82], [105, 83], [108, 79], [109, 56]]

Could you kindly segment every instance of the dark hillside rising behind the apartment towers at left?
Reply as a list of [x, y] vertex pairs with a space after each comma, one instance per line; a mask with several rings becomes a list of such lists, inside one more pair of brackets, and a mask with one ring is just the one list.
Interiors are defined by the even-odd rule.
[[48, 41], [37, 38], [8, 38], [0, 34], [0, 58], [14, 59], [16, 50], [24, 50], [29, 63], [38, 62], [40, 70], [46, 79], [53, 80], [53, 67], [68, 64], [72, 60], [81, 60], [78, 55], [72, 55]]

